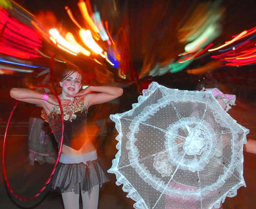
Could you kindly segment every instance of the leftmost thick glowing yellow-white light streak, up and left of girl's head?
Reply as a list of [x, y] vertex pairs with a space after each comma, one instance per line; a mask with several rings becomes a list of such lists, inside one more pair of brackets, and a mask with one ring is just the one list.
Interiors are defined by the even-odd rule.
[[[50, 35], [57, 41], [57, 46], [65, 51], [68, 51], [71, 54], [77, 55], [81, 50], [74, 46], [72, 43], [69, 43], [65, 38], [63, 38], [60, 33], [57, 31], [57, 29], [50, 29], [49, 30]], [[51, 39], [52, 40], [52, 39]]]

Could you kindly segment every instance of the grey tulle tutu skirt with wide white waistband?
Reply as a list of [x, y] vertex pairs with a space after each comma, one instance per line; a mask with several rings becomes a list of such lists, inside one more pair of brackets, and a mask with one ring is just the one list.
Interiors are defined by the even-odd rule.
[[[93, 151], [94, 152], [94, 151]], [[91, 193], [91, 189], [96, 186], [102, 186], [102, 184], [110, 181], [107, 173], [99, 165], [99, 161], [96, 160], [88, 161], [92, 158], [93, 153], [85, 153], [82, 155], [64, 155], [60, 157], [60, 162], [57, 165], [55, 173], [52, 176], [50, 186], [54, 190], [58, 190], [61, 193], [73, 191], [76, 194], [81, 192]], [[64, 156], [63, 156], [64, 155]], [[69, 157], [72, 159], [69, 159]], [[74, 157], [76, 159], [74, 159]], [[81, 160], [81, 158], [84, 158]], [[79, 160], [80, 159], [80, 160]], [[65, 163], [63, 163], [63, 161]], [[81, 163], [76, 163], [82, 161]], [[67, 163], [72, 162], [72, 163]]]

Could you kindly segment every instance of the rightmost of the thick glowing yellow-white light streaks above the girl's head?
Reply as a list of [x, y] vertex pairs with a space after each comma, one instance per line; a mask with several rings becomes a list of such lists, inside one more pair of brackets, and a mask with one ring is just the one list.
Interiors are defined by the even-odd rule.
[[[91, 31], [80, 29], [79, 35], [86, 46], [88, 46], [96, 54], [102, 54], [103, 50], [99, 45], [94, 41], [91, 36]], [[101, 55], [102, 56], [102, 55]], [[105, 58], [105, 57], [104, 57]]]

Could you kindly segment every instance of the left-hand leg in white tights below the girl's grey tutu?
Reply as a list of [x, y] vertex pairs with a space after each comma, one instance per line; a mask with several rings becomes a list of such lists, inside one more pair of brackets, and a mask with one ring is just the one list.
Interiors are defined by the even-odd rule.
[[63, 192], [61, 195], [65, 209], [79, 209], [79, 194]]

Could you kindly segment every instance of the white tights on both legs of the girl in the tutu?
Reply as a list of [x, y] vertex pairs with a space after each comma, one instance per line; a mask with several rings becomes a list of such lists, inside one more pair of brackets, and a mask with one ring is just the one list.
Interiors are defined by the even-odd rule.
[[[79, 194], [74, 192], [61, 193], [65, 209], [79, 209]], [[83, 209], [97, 209], [99, 199], [99, 185], [91, 188], [91, 194], [81, 192]]]

